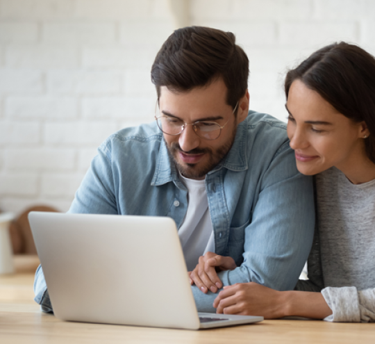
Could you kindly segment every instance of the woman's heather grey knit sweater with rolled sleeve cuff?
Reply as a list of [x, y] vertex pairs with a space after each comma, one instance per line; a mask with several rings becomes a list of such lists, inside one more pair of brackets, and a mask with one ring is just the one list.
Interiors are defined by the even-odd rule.
[[315, 177], [317, 228], [308, 280], [297, 290], [321, 291], [333, 314], [324, 320], [375, 321], [375, 180], [351, 183], [332, 167]]

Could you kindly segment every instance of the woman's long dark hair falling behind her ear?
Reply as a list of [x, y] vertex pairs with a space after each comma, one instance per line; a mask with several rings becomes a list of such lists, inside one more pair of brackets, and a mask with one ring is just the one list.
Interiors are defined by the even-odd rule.
[[285, 96], [290, 85], [301, 80], [319, 93], [339, 113], [367, 124], [365, 138], [369, 159], [375, 163], [375, 58], [360, 47], [340, 42], [315, 51], [285, 78]]

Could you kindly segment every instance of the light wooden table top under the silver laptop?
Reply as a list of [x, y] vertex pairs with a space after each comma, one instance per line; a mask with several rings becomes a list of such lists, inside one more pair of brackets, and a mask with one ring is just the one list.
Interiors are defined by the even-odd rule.
[[187, 331], [65, 322], [33, 302], [33, 273], [0, 276], [0, 343], [375, 343], [375, 324], [265, 320], [259, 324]]

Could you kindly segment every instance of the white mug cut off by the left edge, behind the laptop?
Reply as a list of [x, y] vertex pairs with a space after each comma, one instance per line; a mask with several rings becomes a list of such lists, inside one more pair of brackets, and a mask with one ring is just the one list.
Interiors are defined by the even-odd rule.
[[15, 272], [12, 243], [9, 235], [9, 224], [13, 218], [12, 213], [0, 213], [0, 274]]

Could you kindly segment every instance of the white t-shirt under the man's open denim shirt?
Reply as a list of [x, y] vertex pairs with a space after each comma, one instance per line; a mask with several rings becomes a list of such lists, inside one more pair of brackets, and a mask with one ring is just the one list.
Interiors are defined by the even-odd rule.
[[199, 256], [206, 252], [215, 252], [215, 238], [204, 180], [188, 179], [181, 174], [180, 179], [188, 188], [188, 211], [178, 229], [178, 236], [186, 266], [188, 271], [192, 271]]

